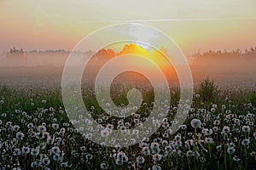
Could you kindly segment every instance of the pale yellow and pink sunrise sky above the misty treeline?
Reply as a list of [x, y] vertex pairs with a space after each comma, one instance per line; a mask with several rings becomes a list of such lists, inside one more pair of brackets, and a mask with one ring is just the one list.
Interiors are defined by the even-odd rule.
[[254, 0], [1, 0], [0, 21], [0, 51], [72, 50], [92, 31], [124, 22], [164, 31], [184, 54], [256, 47]]

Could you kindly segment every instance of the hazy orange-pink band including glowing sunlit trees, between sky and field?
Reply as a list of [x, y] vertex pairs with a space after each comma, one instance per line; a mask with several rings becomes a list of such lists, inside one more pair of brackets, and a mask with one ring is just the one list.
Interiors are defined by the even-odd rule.
[[[146, 58], [152, 59], [154, 63], [160, 65], [172, 87], [178, 86], [177, 74], [172, 64], [168, 64], [164, 55], [166, 48], [161, 48], [160, 52], [149, 53], [147, 49], [136, 44], [126, 44], [121, 51], [114, 51], [111, 48], [99, 50], [96, 54], [92, 51], [86, 53], [77, 52], [90, 57], [90, 65], [86, 66], [84, 81], [95, 80], [97, 72], [108, 60], [118, 57], [120, 54], [142, 54]], [[24, 52], [5, 54], [0, 59], [0, 78], [2, 84], [24, 84], [24, 85], [49, 85], [61, 86], [61, 75], [63, 66], [70, 52], [64, 50]], [[256, 49], [251, 48], [246, 51], [236, 49], [232, 52], [209, 51], [195, 54], [188, 57], [189, 66], [195, 84], [201, 82], [206, 77], [210, 77], [215, 82], [226, 88], [251, 88], [256, 84]], [[135, 61], [136, 62], [136, 61]], [[120, 63], [119, 66], [125, 65]], [[141, 66], [147, 66], [143, 63]], [[178, 65], [181, 66], [181, 65]], [[130, 72], [131, 73], [131, 72]], [[154, 70], [151, 74], [154, 74]], [[139, 82], [145, 81], [145, 77], [136, 78], [136, 74], [123, 74], [117, 77], [118, 81]]]

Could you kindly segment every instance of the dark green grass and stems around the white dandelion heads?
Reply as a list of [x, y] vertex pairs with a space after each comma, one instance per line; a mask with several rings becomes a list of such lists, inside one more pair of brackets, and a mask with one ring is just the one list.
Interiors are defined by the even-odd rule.
[[[126, 94], [129, 88], [123, 88], [122, 91], [118, 91], [119, 88], [113, 90], [114, 95], [113, 101], [117, 105], [125, 103]], [[222, 89], [221, 89], [222, 90]], [[65, 108], [61, 102], [61, 91], [59, 89], [15, 89], [9, 87], [0, 88], [0, 142], [3, 143], [0, 152], [2, 157], [0, 158], [0, 169], [5, 167], [6, 169], [11, 169], [13, 167], [20, 167], [21, 169], [31, 169], [31, 164], [33, 161], [42, 161], [40, 155], [48, 156], [50, 164], [48, 167], [51, 169], [64, 169], [61, 168], [61, 161], [67, 162], [68, 167], [65, 169], [100, 169], [101, 163], [105, 162], [108, 164], [108, 169], [132, 169], [132, 163], [135, 163], [135, 169], [148, 169], [152, 168], [154, 164], [159, 165], [162, 169], [253, 169], [255, 165], [254, 150], [256, 150], [256, 140], [253, 136], [255, 132], [255, 125], [250, 125], [250, 132], [242, 132], [243, 125], [249, 125], [254, 122], [255, 115], [255, 92], [241, 92], [240, 94], [223, 93], [219, 94], [220, 90], [209, 79], [201, 83], [201, 87], [198, 89], [201, 96], [194, 99], [194, 104], [192, 105], [192, 110], [190, 110], [190, 115], [187, 117], [185, 128], [180, 128], [175, 134], [170, 134], [164, 137], [163, 134], [166, 131], [165, 127], [160, 127], [157, 133], [154, 133], [146, 144], [153, 143], [157, 141], [161, 144], [162, 140], [170, 141], [170, 144], [177, 143], [175, 136], [180, 136], [181, 146], [175, 146], [176, 149], [172, 148], [166, 158], [162, 158], [161, 161], [155, 163], [153, 161], [154, 154], [150, 156], [144, 156], [142, 154], [142, 148], [139, 144], [131, 145], [126, 148], [110, 148], [104, 147], [100, 144], [94, 144], [88, 139], [84, 139], [80, 133], [74, 133], [74, 127], [69, 124], [68, 117], [65, 113]], [[119, 93], [118, 93], [119, 92]], [[84, 105], [87, 106], [88, 110], [90, 106], [95, 106], [91, 111], [94, 119], [102, 120], [104, 117], [103, 111], [99, 105], [97, 105], [96, 99], [93, 99], [94, 94], [90, 91], [84, 91]], [[179, 89], [172, 89], [172, 107], [170, 114], [168, 115], [168, 120], [172, 120], [172, 114], [175, 115], [177, 108], [177, 103], [179, 100]], [[224, 98], [220, 100], [221, 96]], [[225, 100], [225, 97], [228, 97]], [[202, 99], [201, 99], [202, 98]], [[149, 105], [152, 100], [154, 100], [154, 93], [148, 91], [143, 95], [144, 102], [148, 101], [148, 105], [143, 105], [143, 107], [137, 111], [137, 114], [143, 118], [148, 116], [148, 108], [152, 107]], [[197, 102], [199, 100], [199, 102]], [[201, 100], [207, 101], [201, 104]], [[217, 101], [215, 103], [214, 101]], [[212, 106], [212, 104], [216, 106]], [[252, 104], [252, 105], [250, 105]], [[225, 106], [223, 108], [222, 106]], [[213, 110], [212, 110], [213, 109]], [[200, 113], [200, 114], [198, 114]], [[228, 114], [226, 114], [228, 113]], [[253, 116], [251, 115], [253, 114]], [[4, 116], [5, 115], [5, 116]], [[218, 116], [219, 115], [219, 116]], [[250, 116], [251, 115], [251, 116]], [[107, 114], [105, 114], [107, 116]], [[230, 116], [230, 118], [227, 118]], [[241, 117], [240, 117], [241, 116]], [[240, 120], [241, 124], [235, 124], [232, 117], [236, 117]], [[202, 123], [205, 123], [204, 127], [212, 129], [213, 127], [218, 127], [217, 132], [211, 135], [204, 135], [202, 133], [202, 128], [194, 129], [191, 127], [190, 122], [192, 119], [200, 119]], [[106, 126], [108, 122], [118, 124], [115, 117], [108, 117], [108, 121], [102, 122], [102, 125]], [[37, 121], [35, 121], [37, 120]], [[142, 119], [143, 120], [143, 119]], [[125, 119], [125, 122], [132, 122], [132, 117]], [[219, 124], [214, 124], [215, 121], [219, 121]], [[17, 140], [13, 144], [16, 138], [16, 131], [12, 130], [11, 127], [6, 127], [7, 122], [12, 122], [12, 126], [20, 126], [20, 132], [25, 134], [24, 139]], [[169, 122], [169, 121], [168, 121]], [[34, 127], [28, 128], [27, 125], [33, 123]], [[32, 137], [31, 133], [38, 133], [37, 127], [45, 123], [47, 132], [55, 139], [54, 143], [47, 143], [47, 139]], [[53, 123], [59, 124], [59, 128], [55, 129], [52, 127]], [[67, 126], [68, 123], [68, 126]], [[65, 125], [66, 124], [66, 125]], [[114, 124], [114, 125], [115, 125]], [[170, 123], [171, 124], [171, 123]], [[132, 125], [133, 126], [133, 125]], [[131, 127], [132, 127], [131, 126]], [[232, 133], [222, 133], [225, 126], [230, 127], [230, 132]], [[115, 126], [116, 127], [116, 126]], [[131, 128], [130, 127], [130, 128]], [[61, 128], [65, 128], [64, 134], [61, 134]], [[241, 132], [235, 132], [235, 129], [239, 129]], [[200, 141], [201, 144], [192, 145], [185, 147], [185, 142], [193, 139]], [[207, 144], [205, 139], [212, 138], [213, 143]], [[58, 140], [63, 140], [63, 144], [58, 142]], [[243, 146], [241, 144], [242, 139], [250, 139], [250, 144], [248, 146]], [[171, 142], [172, 141], [172, 142]], [[236, 144], [236, 152], [232, 155], [227, 153], [227, 149], [230, 143]], [[40, 155], [32, 156], [31, 153], [26, 155], [20, 154], [19, 156], [14, 156], [15, 149], [22, 149], [23, 146], [28, 146], [30, 149], [38, 147], [40, 144], [46, 144], [45, 148], [40, 149]], [[14, 146], [13, 146], [14, 145]], [[55, 145], [58, 145], [60, 150], [63, 151], [63, 158], [61, 161], [55, 161], [53, 155], [50, 155], [50, 150]], [[11, 148], [9, 148], [11, 146]], [[221, 150], [217, 150], [217, 146], [221, 146]], [[174, 147], [174, 146], [173, 146]], [[9, 150], [6, 150], [9, 148]], [[113, 151], [114, 150], [114, 151]], [[179, 156], [177, 150], [181, 152]], [[193, 151], [200, 154], [197, 156], [188, 156], [187, 151]], [[73, 154], [73, 151], [77, 154]], [[129, 157], [131, 164], [127, 162], [123, 166], [118, 166], [114, 161], [114, 154], [119, 151], [125, 152], [126, 156]], [[160, 146], [160, 154], [166, 153], [166, 146]], [[93, 159], [88, 159], [88, 157], [93, 156]], [[143, 156], [145, 162], [140, 165], [136, 163], [137, 156]], [[236, 156], [240, 161], [234, 161], [233, 158]], [[115, 157], [116, 158], [116, 157]], [[19, 162], [19, 164], [18, 164]], [[70, 166], [70, 167], [69, 167]], [[9, 168], [7, 168], [9, 167]], [[42, 167], [43, 169], [43, 167]]]

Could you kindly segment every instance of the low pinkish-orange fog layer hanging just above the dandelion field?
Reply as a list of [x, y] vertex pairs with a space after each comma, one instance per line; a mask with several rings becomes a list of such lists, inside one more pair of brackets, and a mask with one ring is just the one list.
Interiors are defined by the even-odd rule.
[[[91, 54], [93, 53], [84, 53], [84, 57], [89, 57]], [[68, 52], [1, 54], [0, 84], [20, 87], [60, 87], [62, 71], [68, 55]], [[83, 80], [95, 80], [97, 71], [112, 57], [94, 55], [90, 65], [84, 70]], [[209, 77], [224, 88], [255, 88], [255, 54], [201, 54], [190, 58], [189, 62], [195, 86]], [[121, 65], [125, 63], [120, 63]], [[178, 86], [177, 74], [173, 69], [167, 71], [165, 75], [171, 77], [169, 79], [171, 86]], [[119, 82], [147, 82], [145, 80], [145, 77], [136, 76], [134, 72], [115, 78], [115, 81]]]

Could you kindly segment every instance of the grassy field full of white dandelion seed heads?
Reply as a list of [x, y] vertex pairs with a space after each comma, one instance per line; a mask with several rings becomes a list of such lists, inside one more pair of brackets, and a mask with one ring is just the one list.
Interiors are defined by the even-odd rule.
[[[90, 90], [84, 103], [108, 130], [142, 123], [145, 103], [129, 119], [114, 119], [96, 105]], [[121, 95], [122, 96], [122, 95]], [[255, 89], [227, 91], [204, 82], [189, 117], [174, 135], [177, 92], [157, 133], [129, 147], [95, 144], [69, 122], [60, 89], [0, 88], [0, 169], [255, 169]], [[116, 99], [119, 105], [125, 99]], [[123, 104], [123, 105], [124, 105]], [[80, 117], [83, 120], [83, 116]], [[84, 120], [86, 121], [86, 120]], [[104, 135], [104, 134], [102, 134]], [[132, 139], [127, 139], [132, 143]]]

